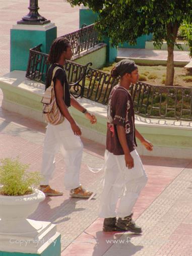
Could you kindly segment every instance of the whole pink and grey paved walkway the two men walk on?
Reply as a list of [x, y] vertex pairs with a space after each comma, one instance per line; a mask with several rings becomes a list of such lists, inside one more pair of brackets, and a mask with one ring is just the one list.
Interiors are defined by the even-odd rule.
[[[0, 93], [0, 101], [3, 98]], [[1, 103], [0, 103], [1, 105]], [[19, 156], [39, 171], [44, 125], [0, 108], [0, 158]], [[69, 198], [63, 188], [65, 163], [56, 156], [51, 185], [63, 196], [46, 197], [30, 216], [51, 221], [61, 233], [62, 256], [190, 256], [192, 255], [192, 161], [142, 158], [149, 181], [134, 208], [134, 219], [143, 227], [142, 235], [102, 232], [98, 203], [103, 171], [92, 173], [88, 167], [103, 166], [104, 147], [82, 138], [84, 143], [81, 181], [97, 190], [95, 199]]]

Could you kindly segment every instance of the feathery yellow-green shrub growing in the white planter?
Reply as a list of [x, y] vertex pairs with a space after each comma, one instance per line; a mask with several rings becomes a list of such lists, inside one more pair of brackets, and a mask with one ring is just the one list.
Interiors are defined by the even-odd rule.
[[5, 158], [0, 166], [0, 194], [24, 195], [33, 192], [32, 186], [38, 186], [41, 174], [26, 171], [29, 165], [22, 164], [18, 158]]

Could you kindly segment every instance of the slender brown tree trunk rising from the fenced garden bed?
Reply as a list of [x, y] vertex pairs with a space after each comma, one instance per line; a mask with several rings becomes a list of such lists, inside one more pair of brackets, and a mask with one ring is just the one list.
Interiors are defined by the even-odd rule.
[[173, 86], [174, 81], [174, 45], [177, 38], [177, 32], [179, 25], [177, 22], [169, 23], [167, 25], [167, 50], [168, 50], [168, 57], [167, 57], [167, 70], [166, 70], [166, 86]]

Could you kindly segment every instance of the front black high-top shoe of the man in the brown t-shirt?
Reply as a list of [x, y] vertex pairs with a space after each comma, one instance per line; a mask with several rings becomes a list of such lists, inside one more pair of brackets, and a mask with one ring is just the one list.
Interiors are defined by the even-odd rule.
[[116, 226], [124, 231], [131, 231], [133, 233], [142, 233], [142, 229], [138, 227], [132, 220], [133, 213], [130, 216], [124, 218], [118, 218]]

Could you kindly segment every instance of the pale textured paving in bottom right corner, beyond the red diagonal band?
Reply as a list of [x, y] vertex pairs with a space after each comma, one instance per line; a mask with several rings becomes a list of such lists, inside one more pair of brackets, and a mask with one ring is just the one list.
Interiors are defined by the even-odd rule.
[[[185, 168], [137, 219], [137, 224], [143, 228], [142, 236], [131, 237], [128, 244], [114, 243], [103, 256], [192, 255], [188, 249], [192, 242], [192, 230], [188, 243], [170, 238], [180, 224], [192, 222], [191, 172], [192, 169]], [[129, 234], [124, 234], [119, 240], [127, 236]], [[180, 254], [178, 251], [182, 245], [183, 252]]]

